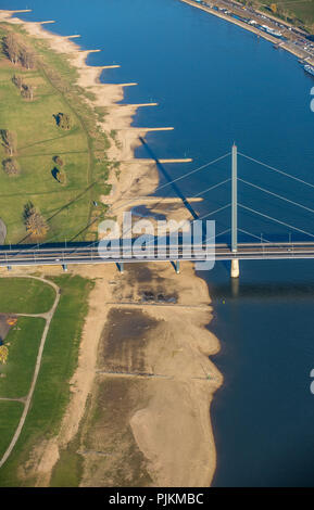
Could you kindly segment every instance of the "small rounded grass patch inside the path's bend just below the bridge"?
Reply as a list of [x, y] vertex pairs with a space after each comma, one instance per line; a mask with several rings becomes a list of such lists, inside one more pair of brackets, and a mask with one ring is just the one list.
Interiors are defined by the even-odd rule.
[[30, 278], [0, 278], [0, 314], [45, 314], [55, 299], [52, 286]]

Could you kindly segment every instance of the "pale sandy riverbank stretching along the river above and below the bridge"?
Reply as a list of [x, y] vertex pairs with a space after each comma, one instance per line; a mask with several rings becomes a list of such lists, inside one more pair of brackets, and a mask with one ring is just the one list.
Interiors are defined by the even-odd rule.
[[[108, 107], [102, 128], [117, 130], [109, 158], [134, 161], [146, 131], [130, 127], [136, 106], [116, 104], [123, 87], [101, 85], [102, 68], [88, 66], [89, 52], [72, 40], [10, 16], [2, 12], [0, 21], [22, 24], [30, 36], [68, 56], [78, 85], [96, 97], [91, 105]], [[110, 177], [111, 195], [103, 197], [118, 219], [123, 211], [139, 205], [138, 196], [146, 203], [159, 181], [154, 164], [122, 163], [120, 169], [118, 179]], [[167, 209], [167, 218], [189, 217], [176, 200]], [[60, 269], [40, 272], [49, 276]], [[183, 266], [183, 277], [161, 263], [129, 265], [123, 276], [111, 265], [73, 267], [70, 272], [96, 281], [71, 381], [72, 399], [59, 435], [34, 448], [27, 466], [21, 467], [22, 479], [35, 479], [37, 486], [53, 484], [61, 454], [75, 439], [83, 486], [210, 485], [216, 454], [209, 409], [222, 377], [209, 360], [218, 342], [206, 329], [212, 308], [205, 282], [191, 264]]]

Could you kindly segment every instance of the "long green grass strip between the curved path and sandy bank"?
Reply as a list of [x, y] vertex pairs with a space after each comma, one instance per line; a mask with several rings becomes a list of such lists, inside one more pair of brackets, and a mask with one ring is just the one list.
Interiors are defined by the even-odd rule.
[[[58, 433], [70, 399], [70, 380], [77, 366], [80, 333], [87, 313], [87, 298], [93, 283], [71, 275], [53, 278], [53, 281], [61, 289], [60, 303], [47, 336], [42, 364], [24, 429], [11, 457], [0, 469], [0, 486], [32, 486], [30, 479], [23, 481], [18, 477], [18, 468], [27, 461], [34, 446]], [[8, 280], [7, 285], [9, 288]], [[9, 360], [10, 356], [9, 352]], [[21, 358], [15, 360], [15, 370], [17, 370], [17, 365], [22, 369], [24, 360]], [[18, 420], [17, 408], [12, 406], [12, 411], [11, 408], [8, 409], [5, 420], [3, 422], [0, 420], [0, 430], [1, 428], [5, 430], [7, 445], [11, 436], [5, 423], [12, 432], [14, 424], [10, 425], [10, 423]]]

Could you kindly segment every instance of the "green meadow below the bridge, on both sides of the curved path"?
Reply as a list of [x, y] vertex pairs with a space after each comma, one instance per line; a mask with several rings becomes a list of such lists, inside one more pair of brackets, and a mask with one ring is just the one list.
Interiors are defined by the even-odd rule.
[[[0, 469], [0, 486], [32, 486], [32, 479], [21, 479], [20, 467], [29, 459], [34, 447], [45, 439], [58, 434], [62, 416], [70, 400], [70, 380], [77, 366], [78, 348], [84, 319], [87, 314], [87, 299], [93, 282], [78, 276], [65, 275], [51, 279], [60, 288], [60, 302], [52, 318], [45, 344], [40, 371], [33, 395], [32, 405], [20, 435], [20, 438]], [[7, 294], [15, 295], [16, 285], [20, 285], [18, 309], [29, 309], [29, 292], [27, 283], [33, 280], [5, 278]], [[21, 283], [22, 281], [22, 283]], [[51, 303], [46, 298], [45, 308], [40, 308], [36, 299], [36, 292], [43, 295], [45, 282], [33, 288], [33, 297], [38, 310], [47, 309]], [[2, 296], [2, 293], [0, 292]], [[9, 303], [10, 299], [8, 298]], [[12, 302], [11, 302], [12, 303]], [[23, 308], [24, 306], [24, 308]], [[7, 307], [8, 309], [8, 307]], [[0, 302], [0, 313], [2, 311]], [[14, 313], [14, 306], [10, 305]], [[33, 313], [36, 313], [32, 309]], [[45, 320], [41, 318], [20, 317], [16, 328], [12, 328], [5, 341], [10, 343], [8, 365], [2, 366], [1, 372], [5, 374], [0, 379], [0, 458], [17, 426], [23, 411], [23, 403], [16, 400], [1, 400], [1, 398], [23, 398], [27, 395], [34, 373], [38, 346]]]

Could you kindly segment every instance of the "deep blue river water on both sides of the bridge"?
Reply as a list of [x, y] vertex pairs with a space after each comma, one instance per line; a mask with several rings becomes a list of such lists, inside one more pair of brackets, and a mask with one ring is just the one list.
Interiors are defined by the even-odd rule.
[[[150, 150], [158, 157], [193, 158], [167, 165], [172, 178], [228, 153], [236, 141], [241, 153], [314, 184], [314, 80], [293, 55], [179, 0], [1, 0], [0, 8], [30, 8], [24, 20], [56, 20], [59, 34], [80, 34], [83, 48], [103, 50], [90, 55], [90, 64], [120, 63], [102, 79], [138, 82], [126, 89], [125, 102], [160, 103], [139, 110], [134, 125], [175, 128], [148, 135]], [[137, 156], [147, 157], [147, 150], [139, 148]], [[313, 240], [313, 188], [243, 157], [239, 175], [307, 207], [241, 181], [240, 203], [277, 221], [240, 208], [240, 239], [250, 232]], [[192, 196], [229, 176], [226, 157], [179, 187]], [[171, 188], [163, 194], [172, 194]], [[197, 212], [205, 215], [229, 202], [226, 183], [206, 193]], [[229, 208], [214, 219], [217, 233], [227, 230]], [[238, 282], [230, 282], [222, 263], [200, 273], [213, 298], [210, 329], [222, 344], [213, 361], [225, 380], [211, 410], [213, 485], [314, 486], [314, 263], [247, 262], [240, 270]]]

